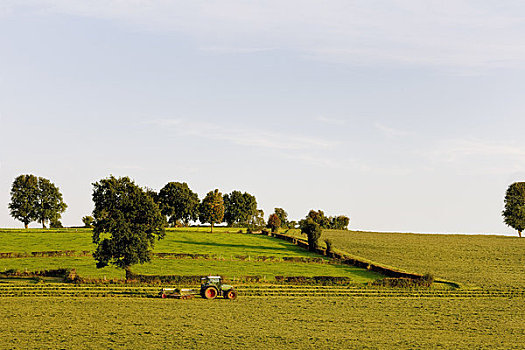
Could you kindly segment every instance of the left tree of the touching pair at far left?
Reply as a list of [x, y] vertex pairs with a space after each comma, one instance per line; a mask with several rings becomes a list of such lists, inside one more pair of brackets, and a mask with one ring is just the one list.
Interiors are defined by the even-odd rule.
[[28, 225], [37, 217], [38, 178], [35, 175], [20, 175], [15, 178], [11, 187], [9, 211], [13, 218]]

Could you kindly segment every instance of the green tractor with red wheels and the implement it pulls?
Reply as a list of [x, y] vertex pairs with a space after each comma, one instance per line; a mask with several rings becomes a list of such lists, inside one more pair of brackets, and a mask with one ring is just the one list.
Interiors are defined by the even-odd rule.
[[161, 298], [190, 299], [194, 295], [200, 294], [204, 299], [215, 299], [223, 297], [224, 299], [237, 299], [237, 291], [228, 284], [222, 283], [221, 276], [208, 276], [201, 278], [201, 289], [178, 289], [162, 288], [159, 293]]

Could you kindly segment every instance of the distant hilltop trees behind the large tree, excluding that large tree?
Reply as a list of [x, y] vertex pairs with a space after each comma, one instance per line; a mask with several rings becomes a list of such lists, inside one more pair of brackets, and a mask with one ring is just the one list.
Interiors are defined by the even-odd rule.
[[[136, 186], [128, 177], [101, 180], [93, 184], [93, 201], [96, 205], [95, 193], [98, 186], [105, 181], [127, 183], [127, 187], [115, 187], [120, 196], [126, 196], [129, 187]], [[211, 231], [217, 224], [226, 223], [229, 227], [247, 227], [251, 230], [270, 228], [276, 232], [279, 228], [296, 228], [298, 223], [288, 220], [288, 213], [283, 208], [275, 208], [273, 214], [265, 221], [264, 211], [257, 207], [254, 195], [238, 190], [222, 194], [214, 189], [200, 200], [186, 182], [169, 182], [160, 191], [151, 188], [138, 187], [157, 205], [161, 215], [165, 218], [165, 225], [170, 227], [188, 226], [191, 222], [199, 221], [210, 224]], [[98, 197], [97, 197], [98, 198]], [[20, 175], [13, 181], [11, 188], [11, 202], [9, 209], [11, 216], [24, 223], [24, 227], [37, 221], [46, 227], [49, 222], [51, 228], [62, 227], [60, 218], [66, 210], [62, 193], [50, 180], [35, 175]], [[315, 214], [314, 214], [315, 213]], [[93, 216], [82, 218], [85, 227], [92, 227], [96, 222], [95, 211]], [[323, 211], [311, 211], [309, 216], [317, 218], [321, 228], [345, 230], [350, 219], [344, 215], [326, 217]]]

